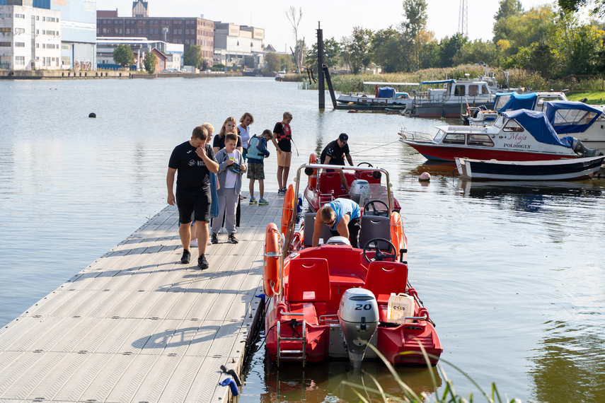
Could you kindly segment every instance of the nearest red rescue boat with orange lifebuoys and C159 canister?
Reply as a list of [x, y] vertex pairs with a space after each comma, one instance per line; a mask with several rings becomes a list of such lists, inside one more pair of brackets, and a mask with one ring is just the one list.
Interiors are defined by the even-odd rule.
[[[326, 168], [333, 165], [302, 165], [290, 194], [298, 194], [305, 169]], [[388, 183], [388, 172], [381, 168], [342, 169], [370, 177], [380, 173]], [[352, 247], [347, 238], [332, 236], [325, 225], [323, 244], [312, 247], [316, 213], [305, 214], [297, 224], [291, 201], [284, 200], [281, 223], [287, 227], [277, 246], [277, 226], [267, 226], [265, 337], [270, 359], [278, 365], [300, 361], [304, 366], [349, 358], [359, 367], [364, 359], [376, 358], [374, 350], [366, 348], [372, 344], [391, 363], [426, 366], [425, 351], [428, 363], [435, 365], [442, 344], [408, 281], [407, 239], [390, 194], [386, 201], [362, 202], [360, 248]]]

